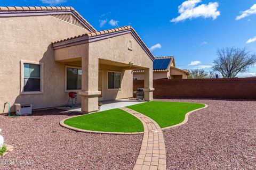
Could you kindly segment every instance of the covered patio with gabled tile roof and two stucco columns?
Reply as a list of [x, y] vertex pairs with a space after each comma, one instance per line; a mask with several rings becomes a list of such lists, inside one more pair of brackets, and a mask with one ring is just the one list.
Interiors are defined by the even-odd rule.
[[53, 49], [55, 61], [81, 67], [81, 112], [98, 111], [99, 100], [131, 98], [132, 70], [145, 70], [145, 100], [153, 99], [154, 56], [131, 27], [57, 41]]

